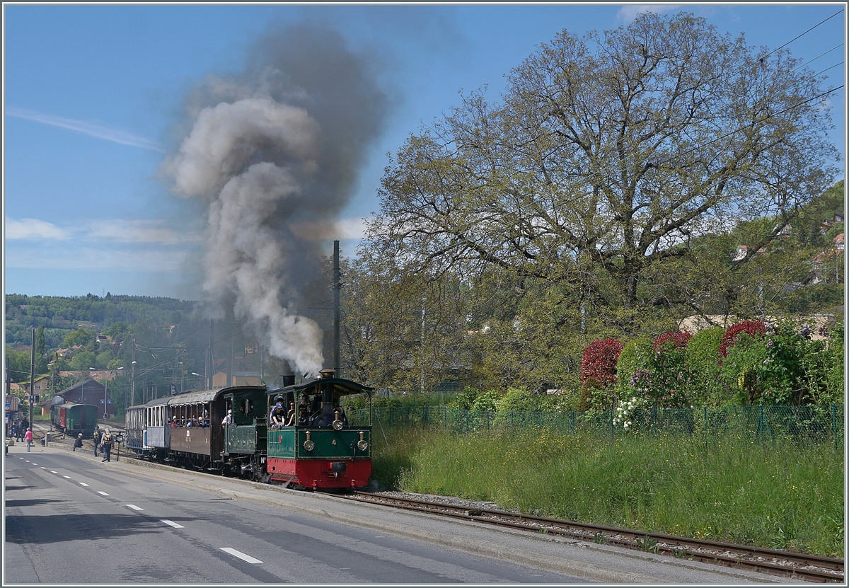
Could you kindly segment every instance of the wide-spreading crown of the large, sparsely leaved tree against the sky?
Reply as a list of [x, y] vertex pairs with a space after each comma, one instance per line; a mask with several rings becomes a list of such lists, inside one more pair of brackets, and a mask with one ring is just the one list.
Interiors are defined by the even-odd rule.
[[689, 14], [564, 31], [511, 73], [501, 104], [472, 93], [408, 139], [386, 168], [372, 246], [432, 276], [496, 267], [651, 308], [662, 297], [641, 284], [669, 260], [696, 270], [695, 235], [778, 218], [728, 268], [739, 271], [828, 186], [821, 82], [786, 50]]

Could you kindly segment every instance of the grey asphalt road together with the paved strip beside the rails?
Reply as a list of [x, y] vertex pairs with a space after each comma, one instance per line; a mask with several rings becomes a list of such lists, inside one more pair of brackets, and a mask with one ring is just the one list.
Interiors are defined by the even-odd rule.
[[4, 469], [3, 585], [794, 583], [63, 444]]

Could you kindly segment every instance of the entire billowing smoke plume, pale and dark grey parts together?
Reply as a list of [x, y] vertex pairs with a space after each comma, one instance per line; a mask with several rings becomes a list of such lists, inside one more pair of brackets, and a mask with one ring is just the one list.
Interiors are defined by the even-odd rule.
[[269, 35], [250, 63], [189, 94], [182, 142], [162, 169], [175, 194], [206, 206], [204, 291], [232, 304], [273, 356], [315, 373], [323, 334], [298, 308], [312, 302], [302, 288], [321, 274], [322, 251], [297, 228], [331, 223], [346, 204], [388, 101], [374, 62], [327, 29]]

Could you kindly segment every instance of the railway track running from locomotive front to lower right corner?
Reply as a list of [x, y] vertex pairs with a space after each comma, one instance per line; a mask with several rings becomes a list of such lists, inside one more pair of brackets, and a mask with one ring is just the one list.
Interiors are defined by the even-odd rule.
[[533, 517], [515, 512], [401, 499], [368, 492], [354, 492], [342, 496], [349, 500], [427, 512], [530, 533], [559, 535], [610, 546], [627, 547], [696, 562], [748, 569], [762, 574], [790, 576], [808, 582], [844, 582], [843, 560], [834, 557], [818, 557], [718, 541], [644, 533], [630, 529], [560, 521], [554, 518]]

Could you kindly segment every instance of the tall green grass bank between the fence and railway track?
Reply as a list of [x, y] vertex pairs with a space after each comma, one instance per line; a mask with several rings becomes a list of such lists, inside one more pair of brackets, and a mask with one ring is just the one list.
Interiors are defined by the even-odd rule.
[[385, 487], [656, 533], [844, 555], [844, 459], [834, 444], [774, 448], [729, 437], [611, 441], [393, 427], [375, 437]]

